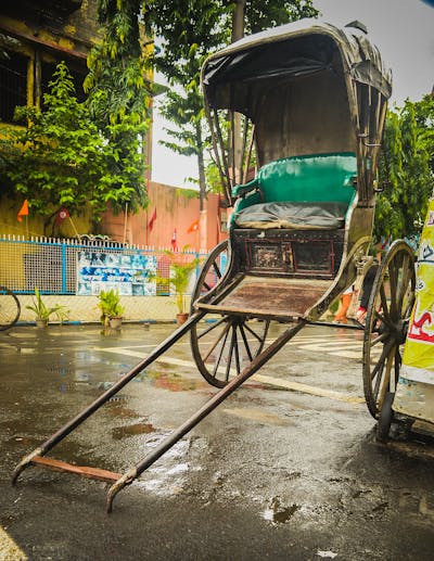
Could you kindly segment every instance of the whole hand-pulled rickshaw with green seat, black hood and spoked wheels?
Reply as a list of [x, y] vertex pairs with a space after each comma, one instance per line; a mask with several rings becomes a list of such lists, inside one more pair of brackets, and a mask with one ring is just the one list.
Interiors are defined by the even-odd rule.
[[[112, 483], [111, 511], [123, 487], [362, 278], [391, 94], [390, 72], [365, 31], [358, 22], [339, 29], [305, 20], [207, 59], [203, 91], [232, 208], [228, 240], [202, 267], [188, 321], [26, 456], [14, 482], [30, 464], [102, 479]], [[365, 324], [363, 386], [374, 418], [397, 382], [413, 292], [412, 252], [398, 241], [379, 267]], [[272, 322], [282, 329], [270, 341]], [[220, 390], [166, 441], [125, 474], [44, 457], [186, 333], [197, 369]]]

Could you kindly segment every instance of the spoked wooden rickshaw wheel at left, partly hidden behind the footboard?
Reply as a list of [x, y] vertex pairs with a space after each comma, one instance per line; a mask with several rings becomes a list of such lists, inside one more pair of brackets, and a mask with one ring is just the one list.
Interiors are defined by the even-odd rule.
[[[227, 241], [212, 251], [197, 278], [192, 302], [220, 282], [222, 257], [227, 255]], [[224, 387], [260, 353], [269, 324], [269, 320], [222, 315], [192, 326], [192, 354], [204, 379], [216, 387]]]

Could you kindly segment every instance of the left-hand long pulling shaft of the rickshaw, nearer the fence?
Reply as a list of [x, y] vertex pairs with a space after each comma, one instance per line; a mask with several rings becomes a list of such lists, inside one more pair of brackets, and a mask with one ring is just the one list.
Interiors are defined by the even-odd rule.
[[165, 339], [159, 345], [157, 345], [154, 350], [148, 355], [146, 358], [138, 362], [135, 367], [132, 367], [126, 374], [124, 374], [115, 384], [113, 384], [106, 392], [104, 392], [100, 397], [98, 397], [89, 407], [82, 410], [79, 415], [74, 417], [71, 421], [68, 421], [62, 429], [60, 429], [56, 433], [54, 433], [48, 441], [38, 446], [35, 450], [33, 450], [28, 456], [24, 457], [22, 461], [16, 466], [12, 474], [12, 485], [14, 485], [20, 476], [20, 474], [30, 464], [34, 463], [33, 460], [37, 456], [43, 456], [49, 450], [51, 450], [56, 444], [59, 444], [65, 436], [67, 436], [72, 431], [74, 431], [78, 425], [80, 425], [86, 419], [88, 419], [93, 412], [95, 412], [102, 405], [104, 405], [111, 397], [117, 394], [125, 385], [128, 384], [133, 378], [136, 378], [142, 370], [144, 370], [149, 365], [154, 362], [163, 353], [165, 353], [174, 343], [176, 343], [179, 339], [182, 337], [190, 330], [194, 323], [197, 323], [200, 319], [203, 318], [205, 311], [199, 311], [192, 316], [176, 329], [167, 339]]

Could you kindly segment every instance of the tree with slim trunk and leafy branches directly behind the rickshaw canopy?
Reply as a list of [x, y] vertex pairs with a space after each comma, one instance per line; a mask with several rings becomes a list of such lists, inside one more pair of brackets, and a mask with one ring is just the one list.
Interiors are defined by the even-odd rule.
[[164, 144], [179, 154], [196, 156], [202, 209], [209, 148], [200, 84], [205, 58], [240, 38], [244, 28], [254, 33], [318, 12], [310, 0], [149, 0], [144, 5], [146, 24], [163, 39], [154, 62], [170, 85], [162, 114], [175, 125], [166, 129], [174, 142]]

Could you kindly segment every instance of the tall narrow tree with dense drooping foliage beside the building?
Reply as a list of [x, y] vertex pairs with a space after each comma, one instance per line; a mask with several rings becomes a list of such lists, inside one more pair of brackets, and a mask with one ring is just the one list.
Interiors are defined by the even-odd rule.
[[151, 86], [138, 0], [99, 0], [102, 41], [88, 56], [87, 104], [106, 142], [116, 149], [112, 173], [132, 188], [130, 209], [148, 204], [144, 140], [149, 129]]

